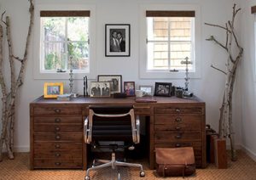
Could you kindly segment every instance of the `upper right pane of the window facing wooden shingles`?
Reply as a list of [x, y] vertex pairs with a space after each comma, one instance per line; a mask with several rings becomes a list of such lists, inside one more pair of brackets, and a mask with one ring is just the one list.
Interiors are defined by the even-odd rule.
[[171, 41], [191, 40], [191, 20], [192, 18], [170, 18]]

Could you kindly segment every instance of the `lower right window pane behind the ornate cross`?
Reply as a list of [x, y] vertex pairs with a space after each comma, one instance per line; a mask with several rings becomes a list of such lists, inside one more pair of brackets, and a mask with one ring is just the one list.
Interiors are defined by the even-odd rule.
[[[172, 42], [171, 46], [171, 68], [177, 70], [185, 70], [186, 65], [182, 65], [181, 61], [183, 61], [186, 57], [191, 60], [191, 43], [186, 42]], [[193, 65], [189, 65], [189, 69], [191, 69]]]

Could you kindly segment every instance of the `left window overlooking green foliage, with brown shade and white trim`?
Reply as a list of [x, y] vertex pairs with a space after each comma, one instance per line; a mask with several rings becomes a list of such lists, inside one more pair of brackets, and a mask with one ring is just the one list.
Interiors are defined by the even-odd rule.
[[33, 76], [68, 80], [96, 76], [96, 7], [76, 3], [35, 6]]

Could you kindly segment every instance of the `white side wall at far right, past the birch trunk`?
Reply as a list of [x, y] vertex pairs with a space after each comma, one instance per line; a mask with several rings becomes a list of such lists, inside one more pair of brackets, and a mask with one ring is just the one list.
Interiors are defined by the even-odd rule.
[[255, 42], [254, 14], [251, 7], [255, 0], [241, 3], [241, 39], [244, 58], [241, 61], [241, 146], [256, 160], [256, 74], [255, 74]]

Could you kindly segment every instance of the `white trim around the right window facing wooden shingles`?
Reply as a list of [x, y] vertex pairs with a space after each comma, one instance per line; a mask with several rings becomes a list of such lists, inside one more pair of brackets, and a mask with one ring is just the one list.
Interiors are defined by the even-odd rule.
[[139, 76], [142, 79], [181, 79], [184, 72], [168, 70], [147, 70], [147, 17], [146, 11], [195, 11], [195, 72], [189, 72], [190, 78], [201, 78], [201, 8], [197, 5], [144, 4], [140, 7], [140, 60]]

